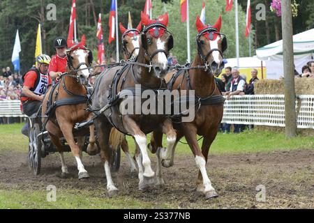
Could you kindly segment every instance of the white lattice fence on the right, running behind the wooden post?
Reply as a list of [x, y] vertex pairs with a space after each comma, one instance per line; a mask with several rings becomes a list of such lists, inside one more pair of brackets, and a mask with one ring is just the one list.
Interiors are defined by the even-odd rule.
[[[299, 95], [297, 128], [314, 128], [314, 95]], [[225, 100], [223, 123], [285, 127], [284, 95], [234, 95]]]

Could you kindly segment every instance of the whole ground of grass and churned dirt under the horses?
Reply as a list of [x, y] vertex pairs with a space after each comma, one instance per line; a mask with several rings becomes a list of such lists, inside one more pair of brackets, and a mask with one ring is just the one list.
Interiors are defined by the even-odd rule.
[[[45, 157], [42, 174], [33, 176], [26, 162], [28, 139], [21, 129], [22, 124], [0, 125], [0, 208], [306, 208], [314, 203], [314, 137], [285, 139], [284, 134], [257, 131], [218, 134], [207, 169], [220, 197], [207, 201], [191, 191], [197, 169], [185, 144], [177, 146], [174, 167], [164, 169], [165, 189], [144, 194], [137, 190], [137, 177], [130, 177], [122, 153], [124, 163], [114, 176], [119, 194], [110, 197], [103, 167], [93, 164], [99, 157], [85, 156], [91, 174], [86, 182], [77, 180], [76, 163], [70, 153], [66, 154], [73, 173], [70, 179], [57, 177], [57, 154]], [[128, 142], [133, 151], [133, 139], [129, 137]], [[149, 156], [154, 164], [154, 155]], [[187, 169], [190, 165], [191, 170]], [[266, 203], [255, 201], [255, 187], [261, 183], [267, 186]], [[47, 201], [46, 187], [50, 184], [58, 185], [57, 202]]]

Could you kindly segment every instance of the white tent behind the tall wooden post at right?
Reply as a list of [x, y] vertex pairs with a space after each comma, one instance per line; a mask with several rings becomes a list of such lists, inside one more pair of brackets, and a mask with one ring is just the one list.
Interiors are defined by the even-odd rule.
[[[294, 65], [301, 68], [314, 56], [314, 29], [293, 36]], [[257, 58], [266, 61], [267, 79], [283, 76], [283, 40], [256, 49]]]

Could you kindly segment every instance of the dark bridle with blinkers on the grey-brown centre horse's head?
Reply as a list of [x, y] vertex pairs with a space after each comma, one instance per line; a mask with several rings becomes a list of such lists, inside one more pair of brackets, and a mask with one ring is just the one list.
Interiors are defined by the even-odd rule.
[[[168, 40], [168, 52], [165, 51], [165, 49], [156, 49], [152, 54], [149, 54], [147, 52], [147, 39], [146, 39], [146, 33], [147, 31], [149, 31], [149, 29], [152, 29], [152, 28], [158, 28], [158, 27], [161, 27], [164, 29], [164, 31], [167, 31], [167, 26], [165, 26], [164, 24], [161, 24], [160, 22], [154, 22], [153, 24], [149, 24], [148, 26], [145, 26], [144, 27], [144, 30], [142, 31], [142, 34], [141, 34], [141, 38], [142, 38], [142, 47], [144, 48], [144, 53], [146, 56], [149, 56], [149, 65], [151, 66], [151, 63], [152, 63], [152, 60], [153, 60], [153, 57], [158, 54], [158, 53], [164, 53], [166, 57], [169, 56], [169, 50], [172, 49], [173, 47], [173, 36], [172, 36], [172, 33], [170, 31], [167, 31], [167, 33], [170, 33], [170, 37], [169, 37], [169, 40]], [[158, 30], [157, 30], [158, 32]]]

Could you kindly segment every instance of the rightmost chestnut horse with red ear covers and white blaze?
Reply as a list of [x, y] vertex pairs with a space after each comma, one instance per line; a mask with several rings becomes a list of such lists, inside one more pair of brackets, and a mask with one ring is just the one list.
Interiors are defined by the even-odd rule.
[[[211, 143], [218, 132], [218, 125], [223, 118], [223, 97], [216, 87], [214, 75], [219, 75], [224, 67], [223, 52], [227, 48], [227, 40], [220, 33], [221, 17], [214, 26], [205, 26], [197, 16], [197, 55], [190, 64], [190, 69], [170, 72], [166, 82], [170, 91], [174, 89], [194, 90], [195, 92], [195, 118], [193, 121], [174, 125], [177, 130], [177, 145], [181, 137], [186, 137], [195, 162], [200, 169], [197, 178], [197, 191], [203, 192], [207, 199], [218, 197], [207, 175], [206, 162]], [[199, 67], [197, 67], [199, 66]], [[204, 137], [202, 150], [197, 144], [197, 134]], [[151, 138], [150, 149], [153, 153], [162, 148], [161, 132], [154, 132]], [[170, 160], [162, 160], [165, 167], [173, 165], [174, 149]]]

